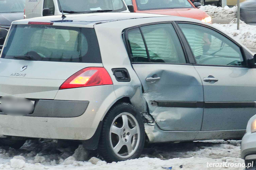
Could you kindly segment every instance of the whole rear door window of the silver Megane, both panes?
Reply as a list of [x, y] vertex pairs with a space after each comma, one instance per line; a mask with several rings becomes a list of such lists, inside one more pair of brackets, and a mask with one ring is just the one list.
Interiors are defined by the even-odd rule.
[[128, 32], [133, 62], [186, 63], [172, 24], [143, 26], [141, 32], [139, 28]]

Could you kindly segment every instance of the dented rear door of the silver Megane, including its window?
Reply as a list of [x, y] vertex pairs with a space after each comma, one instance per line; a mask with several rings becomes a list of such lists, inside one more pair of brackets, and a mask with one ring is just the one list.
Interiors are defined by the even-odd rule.
[[187, 64], [171, 23], [126, 31], [131, 62], [142, 83], [149, 112], [162, 130], [200, 131], [203, 85]]

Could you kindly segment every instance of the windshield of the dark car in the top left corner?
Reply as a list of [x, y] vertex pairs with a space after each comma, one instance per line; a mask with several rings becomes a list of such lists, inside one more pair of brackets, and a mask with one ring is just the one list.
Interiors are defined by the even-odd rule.
[[0, 13], [24, 12], [25, 0], [0, 0]]

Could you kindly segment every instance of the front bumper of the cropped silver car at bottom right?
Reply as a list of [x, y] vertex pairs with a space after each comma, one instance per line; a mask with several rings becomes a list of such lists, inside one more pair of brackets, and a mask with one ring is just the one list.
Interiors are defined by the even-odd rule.
[[244, 135], [241, 143], [241, 158], [245, 160], [256, 160], [256, 133]]

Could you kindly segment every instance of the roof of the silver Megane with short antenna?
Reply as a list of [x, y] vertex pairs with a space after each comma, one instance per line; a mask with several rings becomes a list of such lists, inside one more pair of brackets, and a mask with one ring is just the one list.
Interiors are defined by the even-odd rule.
[[[93, 25], [115, 22], [121, 20], [132, 20], [141, 18], [156, 18], [156, 17], [176, 17], [160, 14], [144, 14], [144, 13], [130, 13], [130, 12], [105, 12], [105, 13], [89, 13], [89, 14], [65, 14], [53, 15], [47, 17], [36, 17], [25, 20], [18, 20], [12, 24], [28, 24], [28, 22], [54, 22], [54, 25], [69, 25], [79, 27], [93, 27]], [[82, 26], [84, 25], [84, 26]], [[87, 26], [85, 26], [87, 25]]]

